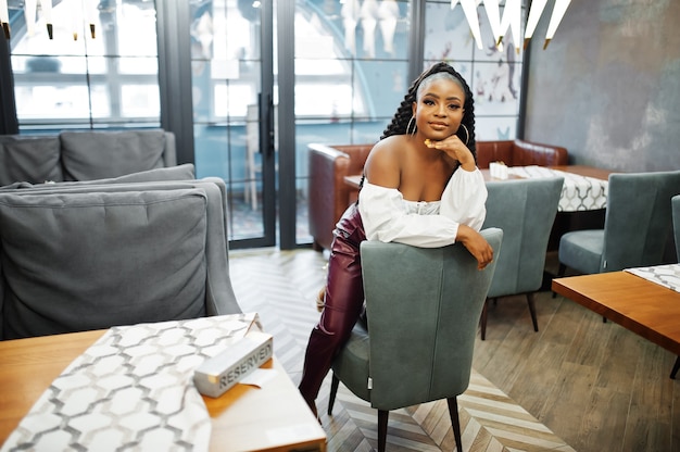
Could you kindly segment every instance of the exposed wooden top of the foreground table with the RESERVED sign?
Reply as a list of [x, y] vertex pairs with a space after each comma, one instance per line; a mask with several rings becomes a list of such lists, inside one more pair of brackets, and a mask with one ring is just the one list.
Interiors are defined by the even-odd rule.
[[[0, 443], [71, 362], [105, 331], [0, 341]], [[237, 384], [204, 397], [213, 423], [211, 451], [325, 451], [326, 434], [276, 357], [262, 388]]]

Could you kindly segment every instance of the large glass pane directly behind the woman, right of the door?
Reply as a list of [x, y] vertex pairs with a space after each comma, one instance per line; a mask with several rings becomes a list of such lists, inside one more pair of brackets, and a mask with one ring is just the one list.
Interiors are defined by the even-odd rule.
[[[281, 103], [281, 108], [288, 108], [287, 114], [294, 117], [294, 137], [285, 147], [294, 151], [294, 155], [287, 155], [287, 161], [294, 161], [292, 176], [284, 178], [281, 174], [281, 184], [289, 184], [291, 193], [288, 198], [281, 196], [281, 211], [297, 212], [297, 227], [289, 228], [294, 233], [291, 248], [312, 242], [307, 221], [314, 206], [308, 205], [308, 191], [314, 187], [308, 187], [308, 145], [378, 141], [406, 92], [412, 3], [294, 2], [290, 13], [294, 21], [294, 110]], [[285, 219], [281, 215], [281, 222]]]

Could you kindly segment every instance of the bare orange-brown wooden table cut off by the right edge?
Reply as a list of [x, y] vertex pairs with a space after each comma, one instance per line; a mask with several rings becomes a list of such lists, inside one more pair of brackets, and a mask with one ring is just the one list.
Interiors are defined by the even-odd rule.
[[553, 291], [576, 301], [678, 355], [680, 367], [680, 293], [628, 272], [556, 278]]

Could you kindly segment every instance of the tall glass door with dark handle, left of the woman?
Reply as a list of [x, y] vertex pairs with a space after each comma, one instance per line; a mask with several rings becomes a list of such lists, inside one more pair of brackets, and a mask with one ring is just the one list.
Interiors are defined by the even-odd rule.
[[276, 243], [270, 1], [191, 2], [197, 177], [227, 185], [229, 247]]

